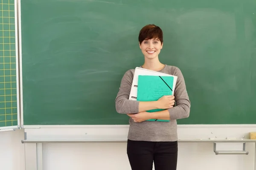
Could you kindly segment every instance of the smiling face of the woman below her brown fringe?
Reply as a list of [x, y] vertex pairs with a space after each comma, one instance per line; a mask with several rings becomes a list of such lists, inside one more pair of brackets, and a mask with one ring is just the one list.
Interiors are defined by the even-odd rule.
[[160, 40], [158, 39], [150, 39], [144, 40], [140, 44], [140, 49], [144, 56], [148, 59], [154, 59], [158, 57], [161, 49], [163, 48], [163, 43], [161, 44]]

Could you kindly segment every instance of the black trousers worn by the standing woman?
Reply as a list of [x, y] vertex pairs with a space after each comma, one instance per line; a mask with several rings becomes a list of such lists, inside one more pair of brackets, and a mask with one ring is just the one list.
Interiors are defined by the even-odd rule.
[[178, 143], [127, 141], [127, 154], [132, 170], [176, 170]]

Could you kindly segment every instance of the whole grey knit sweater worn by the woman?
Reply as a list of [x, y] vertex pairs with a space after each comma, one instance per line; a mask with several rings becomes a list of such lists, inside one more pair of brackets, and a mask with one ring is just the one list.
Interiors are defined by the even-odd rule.
[[[122, 77], [119, 92], [115, 100], [116, 111], [118, 113], [138, 113], [139, 111], [139, 101], [129, 100], [134, 71], [135, 69], [128, 70]], [[134, 122], [130, 118], [128, 131], [128, 139], [130, 140], [157, 142], [177, 141], [176, 119], [183, 119], [189, 116], [190, 101], [180, 69], [175, 66], [165, 65], [159, 72], [177, 76], [177, 83], [174, 91], [176, 106], [168, 109], [170, 113], [170, 122]]]

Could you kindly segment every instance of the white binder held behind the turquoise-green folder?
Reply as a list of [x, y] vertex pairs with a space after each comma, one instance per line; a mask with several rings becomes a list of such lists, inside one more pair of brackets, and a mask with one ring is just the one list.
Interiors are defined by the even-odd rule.
[[131, 92], [130, 92], [130, 96], [129, 96], [130, 100], [137, 100], [137, 87], [138, 87], [139, 75], [170, 76], [170, 77], [173, 77], [173, 87], [172, 87], [173, 89], [172, 89], [172, 91], [173, 91], [173, 93], [175, 91], [177, 76], [173, 76], [171, 74], [160, 73], [158, 71], [152, 71], [152, 70], [148, 70], [148, 69], [145, 69], [145, 68], [136, 67], [135, 72], [134, 72], [134, 78], [133, 78], [132, 85], [131, 85]]

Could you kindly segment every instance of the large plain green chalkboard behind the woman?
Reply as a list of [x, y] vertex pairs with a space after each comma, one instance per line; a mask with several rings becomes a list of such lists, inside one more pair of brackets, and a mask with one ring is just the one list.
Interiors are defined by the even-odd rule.
[[149, 23], [186, 80], [179, 124], [255, 123], [255, 0], [21, 0], [24, 125], [128, 124], [114, 100]]

